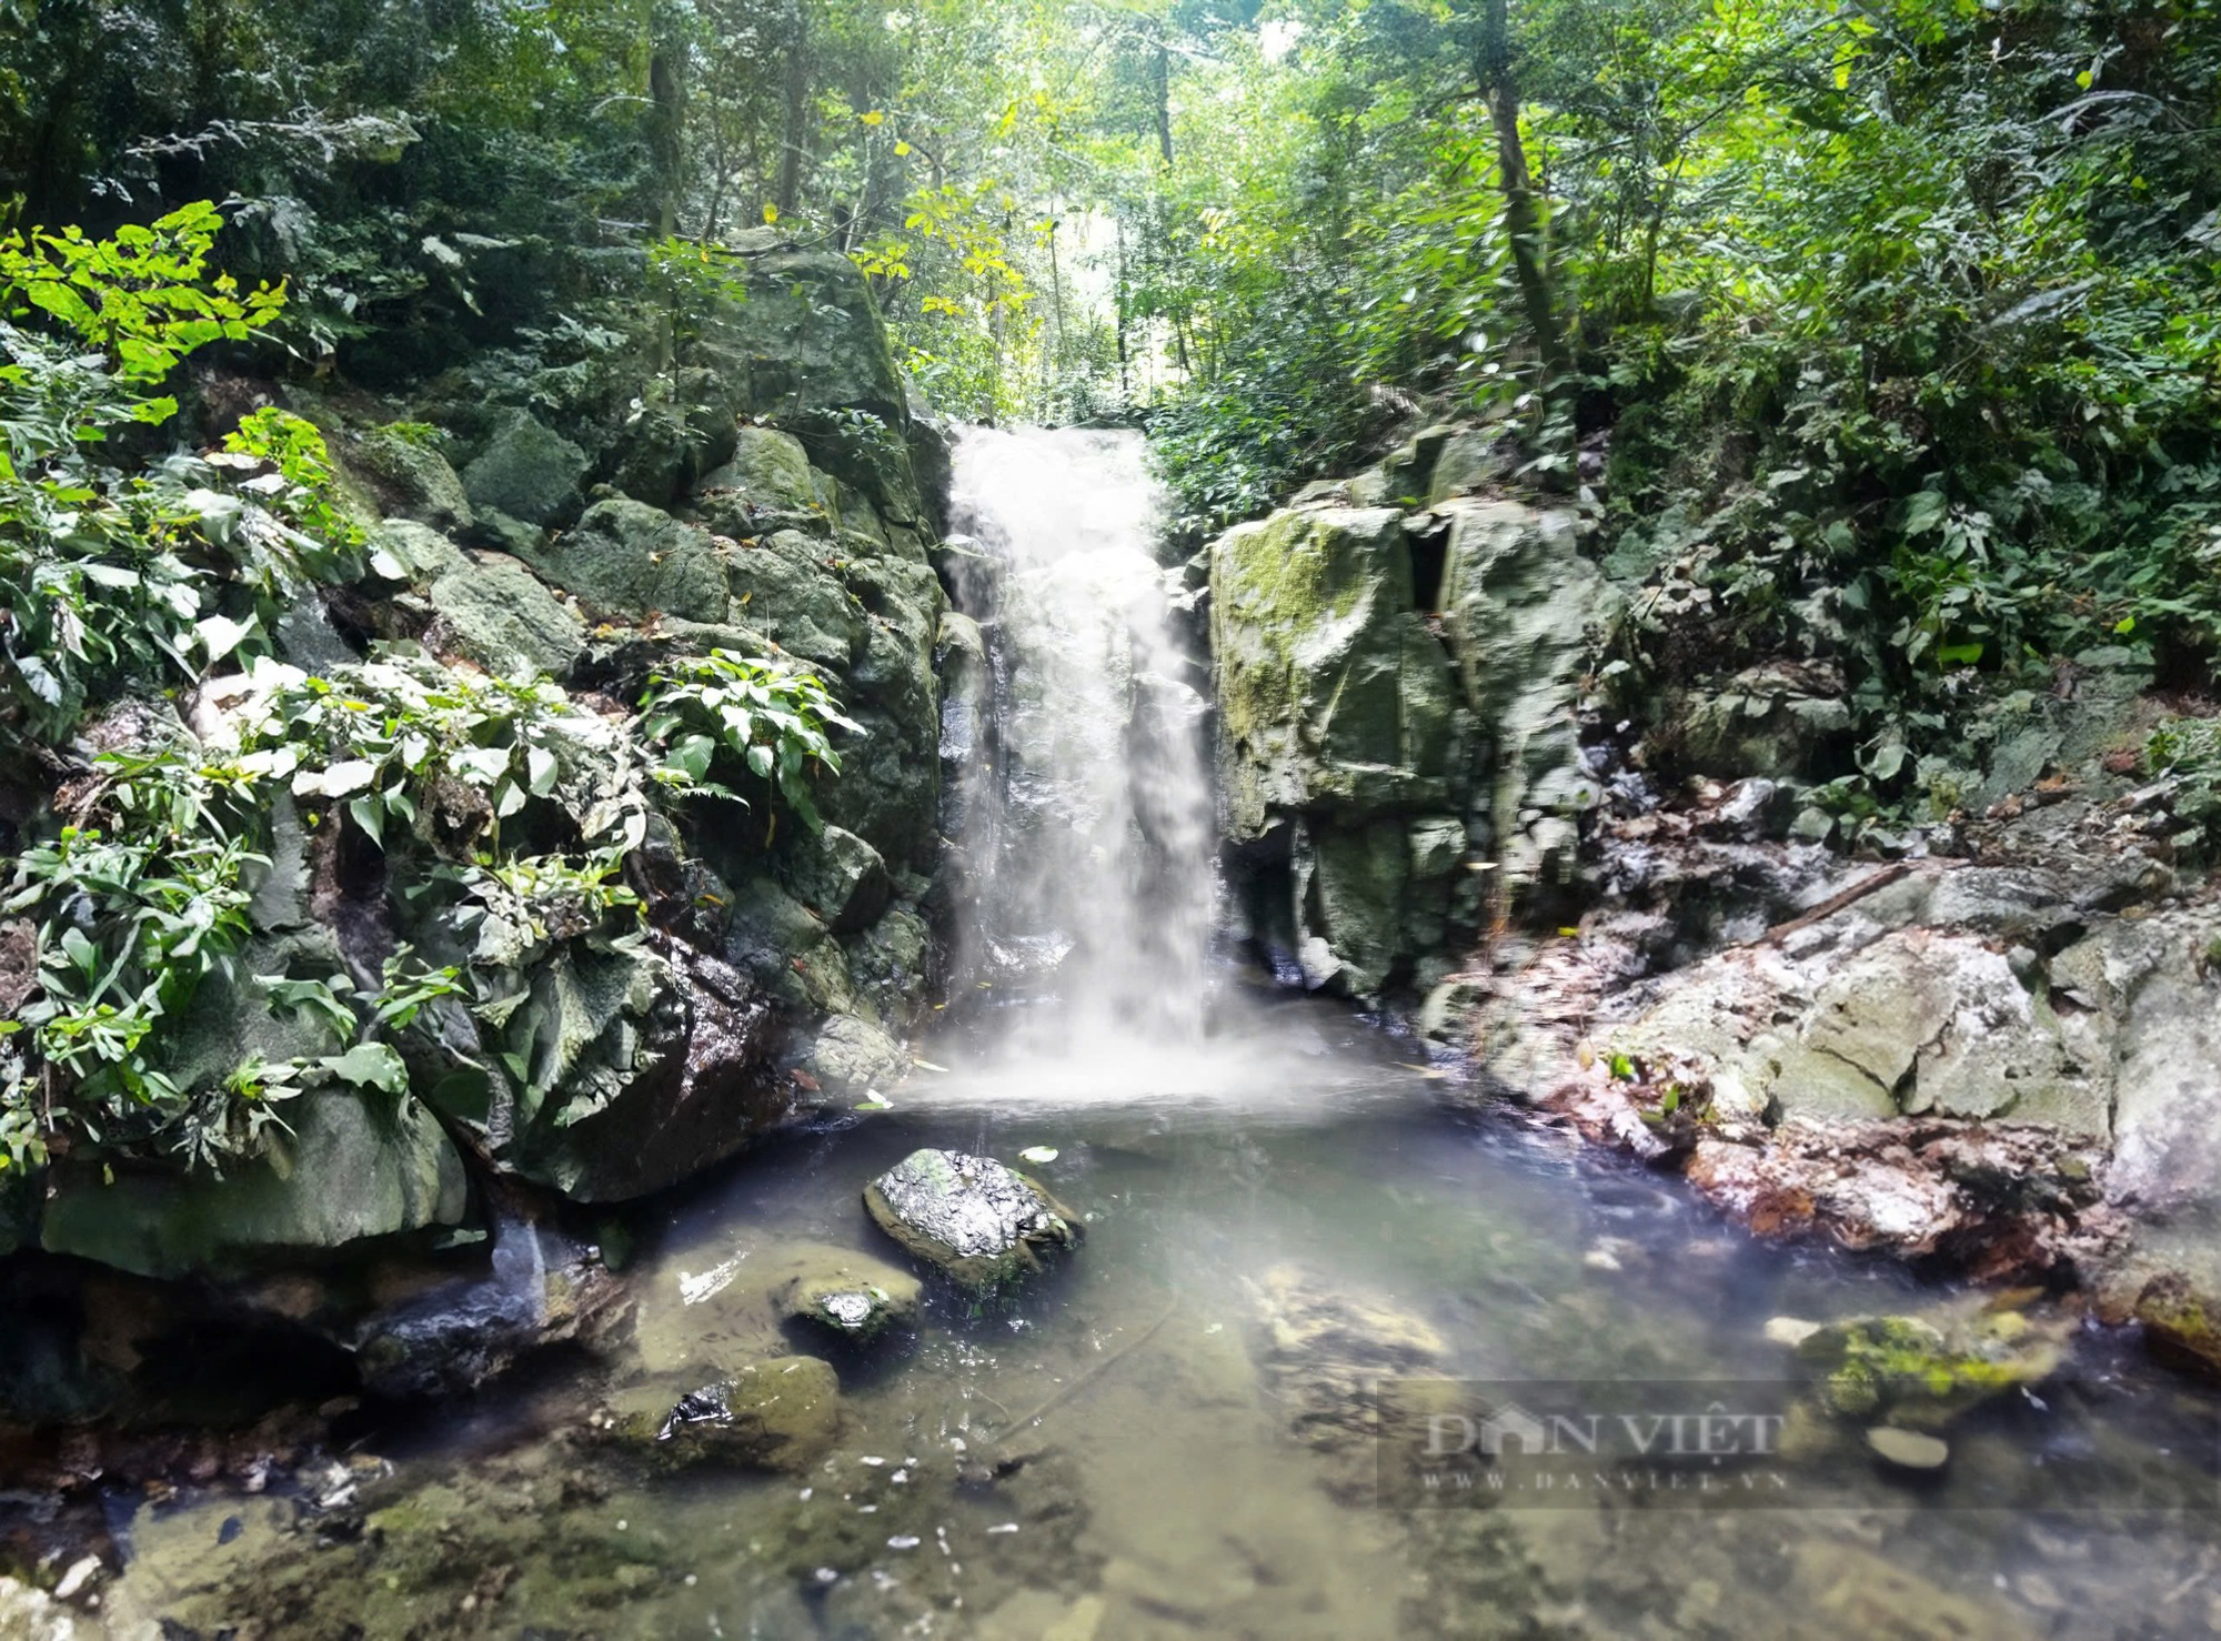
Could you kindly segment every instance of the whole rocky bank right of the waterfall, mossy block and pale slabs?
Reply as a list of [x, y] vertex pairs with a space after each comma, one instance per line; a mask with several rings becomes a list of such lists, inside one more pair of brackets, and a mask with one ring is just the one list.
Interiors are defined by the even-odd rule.
[[2048, 1283], [2221, 1372], [2221, 910], [2143, 751], [2179, 706], [2072, 657], [1923, 766], [1948, 813], [1839, 853], [1823, 624], [1752, 660], [1679, 611], [1630, 668], [1657, 611], [1506, 471], [1437, 429], [1213, 544], [1239, 933], [1761, 1232]]

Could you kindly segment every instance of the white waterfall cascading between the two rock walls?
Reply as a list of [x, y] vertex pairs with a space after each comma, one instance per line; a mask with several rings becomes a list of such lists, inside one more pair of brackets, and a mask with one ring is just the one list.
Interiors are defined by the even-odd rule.
[[953, 522], [973, 542], [951, 580], [984, 673], [944, 706], [953, 973], [1028, 1004], [1013, 1037], [1064, 1059], [1204, 1028], [1206, 704], [1155, 520], [1139, 433], [959, 435]]

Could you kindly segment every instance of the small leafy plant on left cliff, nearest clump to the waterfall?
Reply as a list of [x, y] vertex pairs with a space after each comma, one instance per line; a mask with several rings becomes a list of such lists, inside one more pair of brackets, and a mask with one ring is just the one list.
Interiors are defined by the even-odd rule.
[[[744, 768], [775, 786], [811, 830], [824, 822], [808, 773], [822, 766], [840, 775], [835, 728], [864, 733], [815, 673], [722, 648], [660, 671], [640, 697], [640, 731], [662, 755], [666, 786], [737, 799], [731, 782]], [[713, 779], [720, 773], [724, 782]]]

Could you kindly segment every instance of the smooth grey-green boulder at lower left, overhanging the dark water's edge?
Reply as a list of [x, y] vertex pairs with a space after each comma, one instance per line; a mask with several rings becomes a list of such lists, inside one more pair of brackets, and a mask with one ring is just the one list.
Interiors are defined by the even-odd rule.
[[320, 1088], [287, 1121], [291, 1137], [222, 1177], [115, 1164], [109, 1181], [100, 1168], [56, 1168], [40, 1246], [182, 1277], [462, 1224], [462, 1157], [418, 1101]]

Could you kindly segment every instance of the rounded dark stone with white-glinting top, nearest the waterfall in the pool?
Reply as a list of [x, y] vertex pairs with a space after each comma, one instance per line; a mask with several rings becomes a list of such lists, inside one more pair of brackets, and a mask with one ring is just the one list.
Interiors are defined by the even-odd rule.
[[957, 1286], [991, 1292], [1042, 1270], [1042, 1252], [1079, 1244], [1079, 1219], [993, 1157], [913, 1150], [864, 1186], [888, 1237]]

